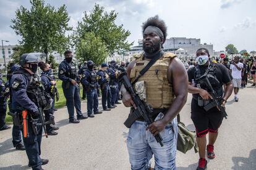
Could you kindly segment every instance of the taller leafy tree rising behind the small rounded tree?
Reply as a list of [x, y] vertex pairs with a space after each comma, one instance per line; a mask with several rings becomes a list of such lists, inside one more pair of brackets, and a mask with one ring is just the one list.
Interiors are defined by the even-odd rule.
[[117, 13], [114, 10], [108, 13], [105, 12], [104, 7], [95, 4], [92, 11], [84, 12], [82, 22], [78, 23], [74, 34], [75, 42], [84, 38], [88, 32], [92, 32], [105, 44], [108, 55], [129, 50], [133, 44], [126, 40], [130, 31], [124, 30], [123, 25], [116, 25], [116, 17]]

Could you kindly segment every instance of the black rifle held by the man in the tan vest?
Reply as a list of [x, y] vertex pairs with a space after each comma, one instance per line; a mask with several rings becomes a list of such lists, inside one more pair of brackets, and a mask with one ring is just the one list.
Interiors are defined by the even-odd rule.
[[[130, 128], [130, 126], [132, 126], [132, 124], [134, 123], [134, 121], [137, 118], [140, 118], [140, 116], [142, 116], [142, 118], [147, 122], [147, 124], [151, 124], [153, 123], [153, 119], [149, 118], [149, 114], [153, 112], [153, 109], [145, 102], [143, 102], [139, 95], [137, 95], [134, 92], [134, 89], [132, 87], [132, 84], [130, 83], [126, 72], [121, 73], [121, 75], [118, 76], [118, 81], [122, 82], [124, 84], [124, 86], [126, 87], [127, 91], [129, 92], [130, 95], [132, 95], [132, 100], [134, 101], [137, 109], [134, 110], [133, 113], [130, 113], [129, 117], [126, 119], [126, 121], [124, 122], [124, 125], [128, 128]], [[156, 142], [158, 142], [161, 147], [163, 147], [163, 142], [162, 142], [162, 137], [160, 134], [157, 134], [155, 136]]]

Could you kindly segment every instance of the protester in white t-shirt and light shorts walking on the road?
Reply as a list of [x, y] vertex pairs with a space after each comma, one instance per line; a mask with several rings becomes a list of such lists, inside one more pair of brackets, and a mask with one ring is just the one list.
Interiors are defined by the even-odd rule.
[[234, 86], [234, 100], [238, 102], [238, 92], [242, 83], [242, 69], [244, 64], [239, 62], [239, 57], [234, 57], [234, 60], [231, 60], [230, 70], [233, 77], [233, 86]]

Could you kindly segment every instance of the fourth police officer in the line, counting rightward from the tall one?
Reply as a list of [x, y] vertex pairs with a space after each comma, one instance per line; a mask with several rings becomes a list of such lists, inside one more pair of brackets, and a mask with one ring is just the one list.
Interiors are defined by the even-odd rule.
[[108, 75], [109, 75], [109, 86], [110, 86], [110, 91], [111, 91], [111, 105], [113, 107], [116, 107], [115, 104], [119, 104], [118, 102], [118, 81], [117, 81], [117, 70], [116, 70], [116, 61], [112, 60], [109, 65], [108, 69]]

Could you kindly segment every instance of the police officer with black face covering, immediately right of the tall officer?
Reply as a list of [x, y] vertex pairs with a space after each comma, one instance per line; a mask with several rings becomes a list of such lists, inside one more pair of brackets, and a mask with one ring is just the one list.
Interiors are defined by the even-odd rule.
[[82, 84], [87, 89], [87, 115], [90, 118], [94, 117], [94, 114], [100, 114], [102, 111], [98, 110], [98, 94], [97, 94], [97, 75], [93, 70], [94, 63], [92, 60], [87, 62], [88, 69], [83, 72]]

